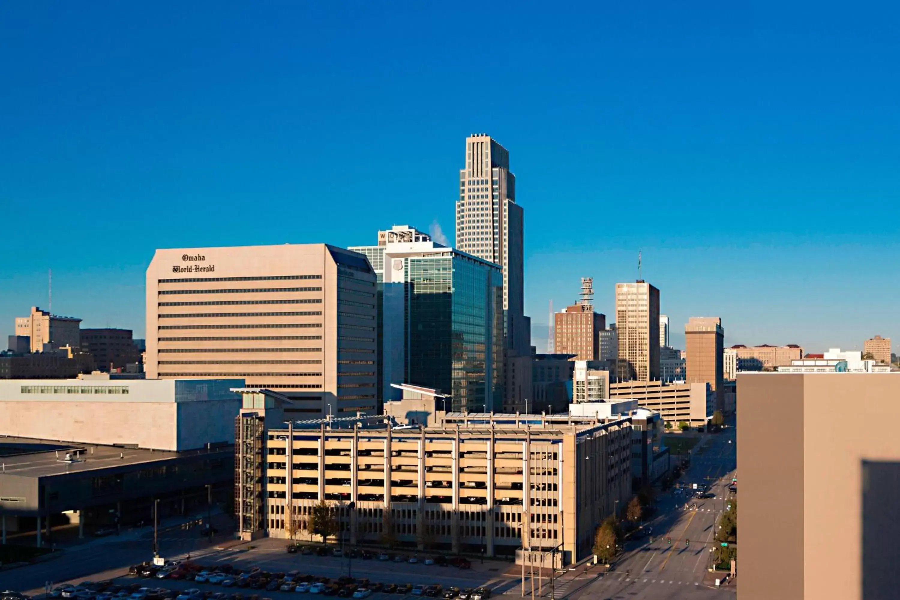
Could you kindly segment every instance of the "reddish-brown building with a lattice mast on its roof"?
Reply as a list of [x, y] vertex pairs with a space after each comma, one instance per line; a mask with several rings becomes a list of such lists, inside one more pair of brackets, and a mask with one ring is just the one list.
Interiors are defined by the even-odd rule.
[[600, 332], [607, 318], [594, 311], [594, 280], [581, 278], [581, 300], [554, 315], [555, 352], [575, 354], [579, 361], [599, 360]]

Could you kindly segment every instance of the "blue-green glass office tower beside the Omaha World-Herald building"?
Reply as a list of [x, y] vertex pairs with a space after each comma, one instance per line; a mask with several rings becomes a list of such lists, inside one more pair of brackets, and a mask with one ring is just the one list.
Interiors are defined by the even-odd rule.
[[500, 411], [500, 265], [405, 226], [380, 232], [379, 246], [351, 249], [367, 255], [378, 275], [383, 399], [398, 392], [391, 383], [405, 382], [450, 394], [454, 410]]

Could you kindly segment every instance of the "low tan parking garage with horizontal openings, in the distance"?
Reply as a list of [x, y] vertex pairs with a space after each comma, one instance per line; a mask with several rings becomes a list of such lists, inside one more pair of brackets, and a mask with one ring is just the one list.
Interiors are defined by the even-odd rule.
[[609, 385], [609, 398], [636, 399], [640, 407], [660, 413], [673, 427], [681, 421], [706, 425], [716, 409], [716, 397], [707, 383], [624, 381]]

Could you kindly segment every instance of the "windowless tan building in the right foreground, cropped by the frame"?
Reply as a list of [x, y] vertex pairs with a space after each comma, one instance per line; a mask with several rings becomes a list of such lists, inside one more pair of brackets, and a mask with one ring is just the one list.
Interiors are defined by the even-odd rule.
[[900, 375], [737, 382], [741, 599], [896, 598]]

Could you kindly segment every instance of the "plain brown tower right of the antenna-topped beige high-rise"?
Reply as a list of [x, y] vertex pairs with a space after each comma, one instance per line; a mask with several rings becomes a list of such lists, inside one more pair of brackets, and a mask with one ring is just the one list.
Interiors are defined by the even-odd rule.
[[684, 326], [688, 358], [685, 375], [688, 383], [708, 383], [716, 395], [716, 408], [725, 409], [723, 396], [725, 329], [718, 317], [691, 317]]

